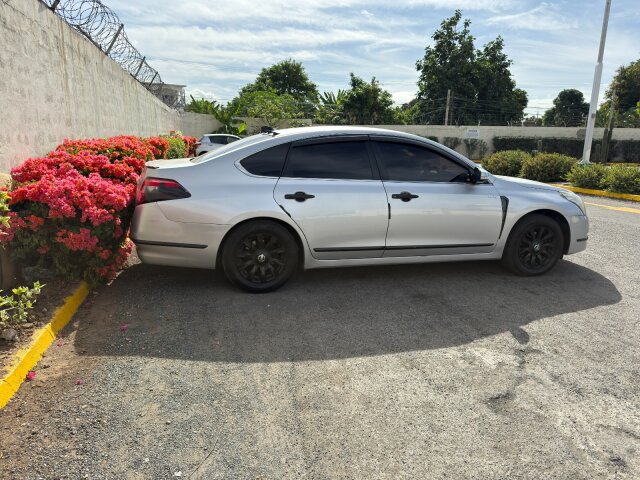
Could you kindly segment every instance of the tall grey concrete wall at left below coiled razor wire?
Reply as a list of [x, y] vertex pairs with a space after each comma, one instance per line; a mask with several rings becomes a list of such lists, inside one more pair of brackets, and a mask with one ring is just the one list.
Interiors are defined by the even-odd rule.
[[167, 107], [38, 0], [0, 1], [0, 172], [65, 138], [218, 126]]

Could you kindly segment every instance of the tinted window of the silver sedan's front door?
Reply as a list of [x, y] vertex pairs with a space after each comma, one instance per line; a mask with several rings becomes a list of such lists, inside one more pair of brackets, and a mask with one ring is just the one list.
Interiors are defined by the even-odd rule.
[[387, 180], [403, 182], [464, 181], [468, 170], [439, 153], [418, 145], [377, 142]]

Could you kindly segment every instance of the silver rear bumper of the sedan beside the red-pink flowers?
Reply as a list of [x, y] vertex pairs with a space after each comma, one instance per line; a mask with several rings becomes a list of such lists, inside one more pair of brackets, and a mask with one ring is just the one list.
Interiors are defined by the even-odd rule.
[[145, 203], [133, 214], [131, 239], [143, 263], [213, 269], [227, 230], [227, 225], [174, 222], [156, 203]]

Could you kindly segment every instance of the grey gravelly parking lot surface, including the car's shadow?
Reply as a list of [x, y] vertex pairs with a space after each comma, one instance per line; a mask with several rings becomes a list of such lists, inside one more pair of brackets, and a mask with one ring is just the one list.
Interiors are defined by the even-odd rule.
[[541, 278], [135, 265], [0, 412], [0, 478], [640, 478], [640, 215], [590, 217]]

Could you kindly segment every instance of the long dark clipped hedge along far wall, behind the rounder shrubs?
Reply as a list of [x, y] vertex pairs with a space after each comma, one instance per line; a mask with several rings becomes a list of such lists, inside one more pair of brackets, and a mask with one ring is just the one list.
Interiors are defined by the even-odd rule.
[[[577, 138], [552, 138], [552, 137], [493, 137], [493, 147], [496, 152], [503, 150], [524, 150], [531, 152], [540, 148], [545, 153], [560, 153], [570, 157], [582, 157], [584, 140]], [[591, 155], [595, 156], [596, 146], [601, 145], [602, 140], [594, 140]], [[640, 163], [640, 140], [612, 140], [609, 161], [621, 158], [626, 163]]]

